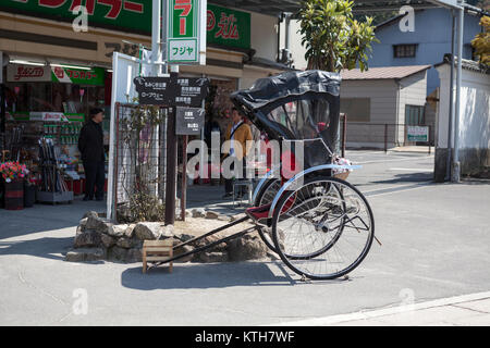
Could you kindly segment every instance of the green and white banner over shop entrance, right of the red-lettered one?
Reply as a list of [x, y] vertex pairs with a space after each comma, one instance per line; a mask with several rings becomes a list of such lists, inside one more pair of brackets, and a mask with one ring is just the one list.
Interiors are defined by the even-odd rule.
[[51, 66], [51, 79], [53, 83], [68, 83], [76, 85], [105, 85], [105, 70], [93, 67], [90, 70]]

